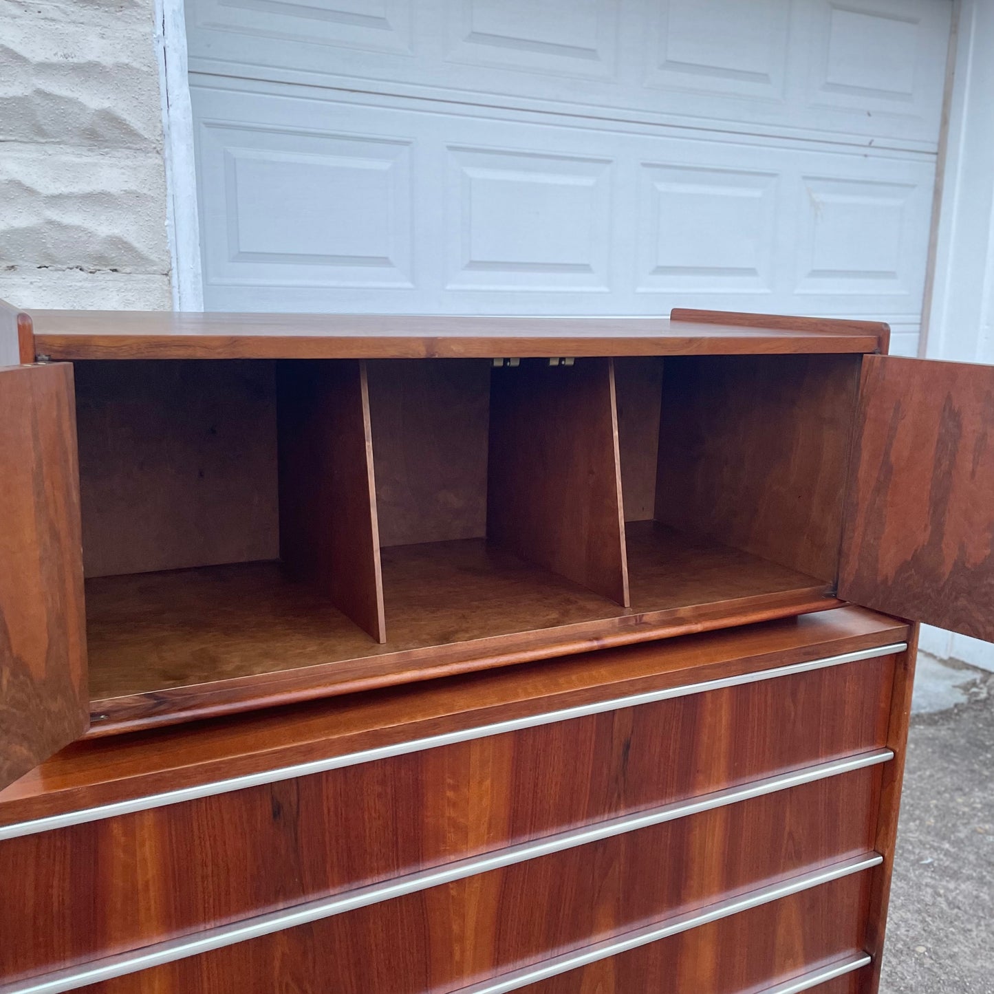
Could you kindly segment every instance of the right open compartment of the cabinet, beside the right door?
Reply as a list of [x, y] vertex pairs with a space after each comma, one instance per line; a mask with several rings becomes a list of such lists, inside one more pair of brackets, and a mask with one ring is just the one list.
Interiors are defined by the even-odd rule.
[[633, 609], [828, 593], [860, 357], [614, 362]]

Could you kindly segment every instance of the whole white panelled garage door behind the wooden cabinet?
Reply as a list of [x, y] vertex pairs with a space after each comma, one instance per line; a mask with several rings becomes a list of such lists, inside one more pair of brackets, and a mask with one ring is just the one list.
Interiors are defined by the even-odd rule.
[[921, 310], [950, 0], [188, 0], [211, 309]]

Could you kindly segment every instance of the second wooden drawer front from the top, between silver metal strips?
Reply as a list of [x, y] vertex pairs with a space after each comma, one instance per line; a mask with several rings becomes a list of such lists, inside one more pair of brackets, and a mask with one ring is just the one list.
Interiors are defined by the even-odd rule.
[[[92, 989], [105, 994], [458, 990], [649, 922], [866, 856], [876, 828], [880, 771], [880, 766], [859, 769], [751, 798]], [[845, 908], [852, 922], [847, 935], [855, 935], [865, 911], [862, 899]], [[784, 927], [797, 927], [793, 919], [785, 920]], [[840, 927], [834, 924], [831, 934]], [[806, 939], [792, 932], [788, 945], [798, 955], [808, 952]]]

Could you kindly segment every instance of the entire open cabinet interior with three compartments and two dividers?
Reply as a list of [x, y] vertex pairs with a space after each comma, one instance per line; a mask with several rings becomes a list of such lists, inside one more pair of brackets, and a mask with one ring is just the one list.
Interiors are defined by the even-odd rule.
[[90, 735], [832, 606], [859, 363], [77, 362]]

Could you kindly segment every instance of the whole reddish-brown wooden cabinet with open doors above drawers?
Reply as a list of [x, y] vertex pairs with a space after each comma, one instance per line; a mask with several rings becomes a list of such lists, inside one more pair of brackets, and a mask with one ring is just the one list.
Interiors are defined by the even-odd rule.
[[916, 628], [867, 608], [994, 637], [991, 370], [0, 317], [2, 994], [875, 990]]

